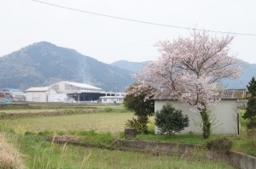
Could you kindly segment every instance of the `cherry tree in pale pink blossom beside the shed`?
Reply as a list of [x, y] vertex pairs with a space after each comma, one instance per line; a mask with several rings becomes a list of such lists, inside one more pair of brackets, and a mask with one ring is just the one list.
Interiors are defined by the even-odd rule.
[[210, 136], [209, 110], [218, 102], [218, 82], [223, 78], [238, 78], [241, 61], [229, 55], [233, 37], [210, 37], [207, 31], [193, 31], [190, 37], [173, 42], [158, 42], [160, 57], [146, 65], [137, 75], [140, 82], [169, 93], [192, 105], [200, 113], [203, 137]]

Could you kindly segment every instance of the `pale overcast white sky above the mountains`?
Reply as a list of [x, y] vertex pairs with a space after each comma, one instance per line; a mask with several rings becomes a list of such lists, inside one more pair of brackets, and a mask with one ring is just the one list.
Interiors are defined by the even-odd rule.
[[[225, 31], [230, 54], [256, 64], [255, 0], [40, 0], [44, 3], [160, 25]], [[191, 30], [149, 25], [58, 8], [32, 0], [0, 0], [0, 56], [47, 41], [104, 63], [156, 60], [155, 43], [188, 37]], [[212, 37], [226, 34], [209, 32]]]

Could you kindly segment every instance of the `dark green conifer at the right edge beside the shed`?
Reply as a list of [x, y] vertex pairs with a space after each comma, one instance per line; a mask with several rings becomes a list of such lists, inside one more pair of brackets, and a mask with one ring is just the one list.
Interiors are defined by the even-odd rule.
[[248, 90], [248, 103], [247, 110], [242, 116], [244, 119], [247, 119], [247, 129], [256, 128], [256, 80], [253, 76], [251, 82], [247, 86]]

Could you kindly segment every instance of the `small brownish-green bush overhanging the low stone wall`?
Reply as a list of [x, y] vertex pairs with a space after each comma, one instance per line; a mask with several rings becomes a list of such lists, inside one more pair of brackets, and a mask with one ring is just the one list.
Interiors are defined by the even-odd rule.
[[217, 138], [207, 143], [207, 149], [218, 151], [221, 155], [228, 154], [233, 142], [227, 138]]

